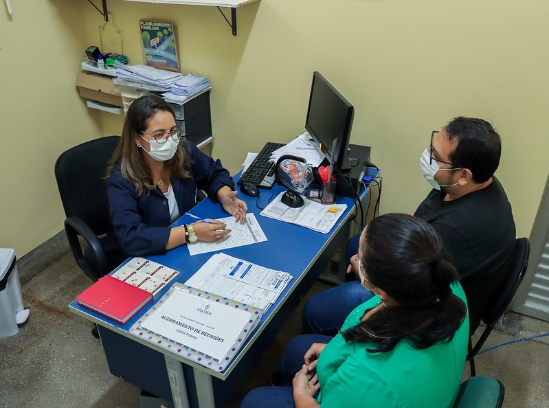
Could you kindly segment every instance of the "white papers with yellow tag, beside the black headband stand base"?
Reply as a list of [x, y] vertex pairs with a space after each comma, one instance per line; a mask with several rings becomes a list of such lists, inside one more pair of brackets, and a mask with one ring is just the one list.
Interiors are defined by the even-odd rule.
[[260, 214], [328, 234], [347, 209], [346, 204], [321, 204], [306, 197], [302, 197], [302, 207], [291, 208], [280, 201], [283, 194], [284, 192], [278, 194]]

